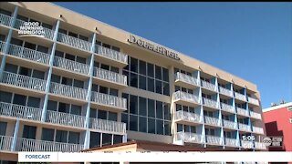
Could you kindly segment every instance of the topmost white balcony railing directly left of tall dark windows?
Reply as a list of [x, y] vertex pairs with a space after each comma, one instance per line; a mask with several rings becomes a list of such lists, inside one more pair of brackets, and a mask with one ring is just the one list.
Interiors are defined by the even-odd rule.
[[107, 58], [110, 58], [112, 60], [119, 61], [121, 63], [128, 63], [128, 55], [123, 54], [119, 51], [112, 50], [110, 48], [104, 47], [104, 46], [95, 46], [95, 53], [104, 56]]

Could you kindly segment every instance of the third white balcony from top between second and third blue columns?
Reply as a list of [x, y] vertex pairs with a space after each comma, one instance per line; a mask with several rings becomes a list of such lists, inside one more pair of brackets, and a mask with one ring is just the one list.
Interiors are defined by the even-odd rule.
[[61, 95], [64, 97], [73, 97], [73, 98], [78, 98], [78, 99], [86, 99], [88, 95], [88, 90], [84, 88], [79, 88], [79, 87], [71, 87], [63, 84], [58, 84], [51, 82], [49, 92], [56, 94], [56, 95]]

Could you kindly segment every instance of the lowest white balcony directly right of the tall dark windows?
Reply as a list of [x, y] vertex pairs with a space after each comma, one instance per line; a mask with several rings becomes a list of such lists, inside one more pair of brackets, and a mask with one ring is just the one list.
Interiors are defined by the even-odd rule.
[[183, 142], [200, 144], [203, 143], [203, 136], [196, 133], [181, 131], [176, 133], [176, 140], [183, 140]]

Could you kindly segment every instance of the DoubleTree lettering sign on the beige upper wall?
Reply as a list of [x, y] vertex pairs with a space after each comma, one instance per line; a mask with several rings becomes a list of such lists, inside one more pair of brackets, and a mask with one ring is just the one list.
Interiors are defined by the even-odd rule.
[[167, 48], [165, 48], [163, 46], [151, 44], [150, 42], [147, 42], [147, 41], [145, 41], [142, 38], [139, 38], [137, 36], [130, 35], [128, 42], [131, 44], [135, 44], [137, 46], [141, 46], [143, 48], [149, 49], [149, 50], [156, 52], [158, 54], [162, 54], [163, 56], [168, 56], [168, 57], [171, 57], [173, 59], [180, 60], [180, 57], [176, 53], [168, 50]]

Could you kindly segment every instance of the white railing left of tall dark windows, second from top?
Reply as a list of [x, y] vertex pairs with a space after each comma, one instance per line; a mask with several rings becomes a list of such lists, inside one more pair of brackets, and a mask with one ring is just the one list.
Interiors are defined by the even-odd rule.
[[93, 76], [110, 81], [110, 82], [119, 83], [121, 85], [127, 86], [127, 77], [126, 76], [117, 74], [115, 72], [111, 72], [109, 70], [95, 67], [93, 69]]

